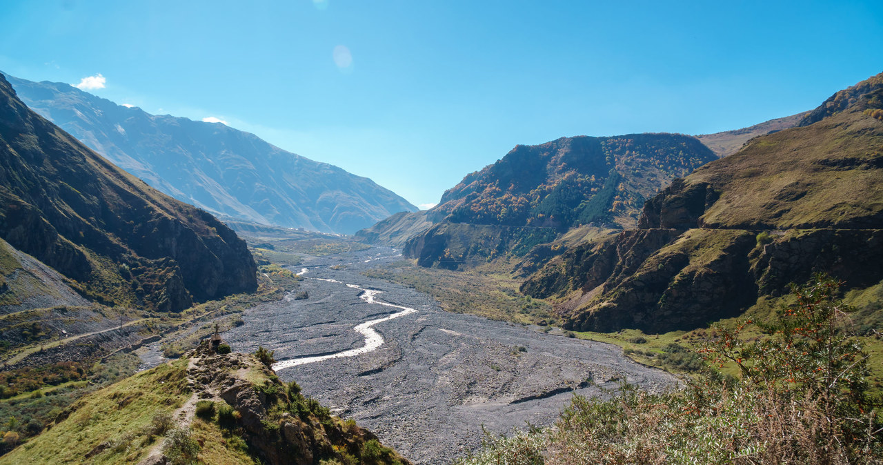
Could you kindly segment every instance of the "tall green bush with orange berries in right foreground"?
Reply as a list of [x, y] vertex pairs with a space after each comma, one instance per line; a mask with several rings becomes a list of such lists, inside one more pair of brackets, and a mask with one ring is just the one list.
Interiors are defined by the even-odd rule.
[[[796, 303], [776, 311], [773, 322], [714, 326], [717, 334], [703, 351], [714, 364], [736, 364], [751, 386], [820, 401], [832, 423], [864, 428], [867, 424], [852, 420], [874, 408], [867, 392], [868, 356], [851, 333], [848, 315], [855, 309], [843, 304], [838, 292], [839, 283], [821, 274], [806, 286], [792, 285]], [[741, 333], [750, 325], [766, 337], [745, 341]]]

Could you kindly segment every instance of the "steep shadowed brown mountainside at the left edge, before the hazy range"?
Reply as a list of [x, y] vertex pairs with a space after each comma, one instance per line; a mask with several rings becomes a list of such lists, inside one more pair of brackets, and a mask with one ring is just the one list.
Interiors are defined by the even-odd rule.
[[102, 304], [179, 311], [257, 288], [233, 231], [27, 109], [2, 76], [0, 236]]

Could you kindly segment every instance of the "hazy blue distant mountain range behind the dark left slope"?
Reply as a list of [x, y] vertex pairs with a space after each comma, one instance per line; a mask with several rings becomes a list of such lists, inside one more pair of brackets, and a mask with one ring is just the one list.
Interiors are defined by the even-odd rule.
[[64, 83], [7, 78], [27, 106], [95, 152], [215, 215], [351, 234], [391, 214], [418, 210], [366, 177], [222, 123], [151, 115]]

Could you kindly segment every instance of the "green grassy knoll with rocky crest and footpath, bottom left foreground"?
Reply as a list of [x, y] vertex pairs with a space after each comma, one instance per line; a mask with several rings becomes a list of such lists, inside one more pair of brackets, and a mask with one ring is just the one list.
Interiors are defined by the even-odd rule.
[[284, 385], [259, 358], [203, 344], [83, 396], [0, 464], [408, 463], [297, 383]]

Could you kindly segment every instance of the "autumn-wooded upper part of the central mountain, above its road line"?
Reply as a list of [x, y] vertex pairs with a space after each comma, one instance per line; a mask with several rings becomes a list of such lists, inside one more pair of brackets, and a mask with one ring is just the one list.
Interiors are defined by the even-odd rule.
[[445, 221], [568, 229], [634, 225], [644, 200], [716, 157], [681, 134], [556, 139], [516, 146], [465, 176], [434, 212]]

